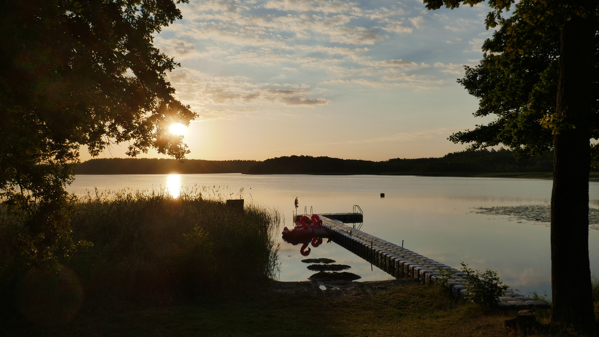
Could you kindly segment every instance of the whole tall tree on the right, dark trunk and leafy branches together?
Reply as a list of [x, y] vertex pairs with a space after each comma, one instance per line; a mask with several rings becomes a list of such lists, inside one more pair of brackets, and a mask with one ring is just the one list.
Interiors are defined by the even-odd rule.
[[[424, 0], [428, 9], [481, 0]], [[504, 144], [522, 157], [553, 148], [551, 218], [555, 322], [594, 335], [588, 250], [590, 139], [599, 138], [597, 1], [491, 0], [487, 28], [500, 28], [483, 44], [480, 65], [458, 80], [480, 98], [475, 116], [497, 115], [487, 125], [453, 134], [471, 148]], [[515, 5], [514, 5], [515, 4]], [[512, 16], [503, 17], [514, 5]], [[565, 266], [576, 261], [576, 275]]]

